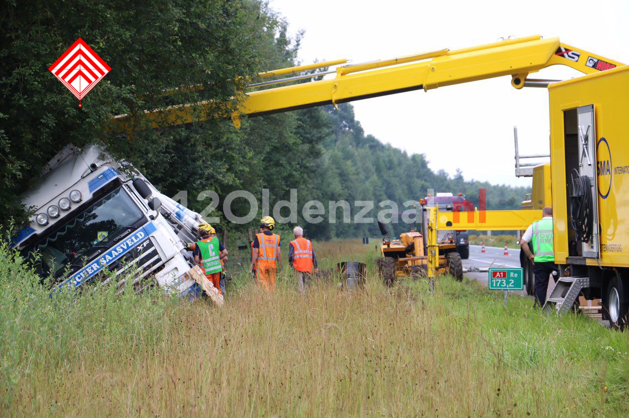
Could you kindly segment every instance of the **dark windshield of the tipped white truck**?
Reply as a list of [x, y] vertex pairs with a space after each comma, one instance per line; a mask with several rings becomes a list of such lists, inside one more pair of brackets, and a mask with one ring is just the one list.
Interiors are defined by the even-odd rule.
[[82, 267], [84, 259], [96, 248], [113, 245], [116, 238], [142, 218], [140, 208], [122, 188], [118, 188], [26, 252], [40, 254], [36, 263], [40, 276], [52, 274], [57, 278], [67, 265]]

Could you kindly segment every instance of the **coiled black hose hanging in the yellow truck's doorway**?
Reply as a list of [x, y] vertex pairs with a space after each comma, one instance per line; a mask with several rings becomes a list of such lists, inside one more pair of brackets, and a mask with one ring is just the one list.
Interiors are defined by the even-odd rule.
[[572, 229], [581, 242], [589, 242], [592, 238], [593, 205], [591, 182], [587, 176], [579, 176], [576, 169], [572, 170], [572, 195], [570, 216]]

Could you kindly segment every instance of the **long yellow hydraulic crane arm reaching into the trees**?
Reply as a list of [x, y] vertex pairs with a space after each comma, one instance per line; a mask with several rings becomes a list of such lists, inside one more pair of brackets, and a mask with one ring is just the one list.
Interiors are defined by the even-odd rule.
[[[338, 60], [333, 63], [343, 63]], [[325, 64], [284, 68], [261, 73], [262, 77], [321, 68]], [[522, 88], [526, 77], [551, 65], [566, 65], [582, 73], [596, 73], [620, 67], [620, 62], [560, 43], [559, 38], [543, 39], [539, 35], [515, 38], [460, 50], [437, 50], [416, 55], [337, 67], [335, 78], [286, 85], [248, 92], [238, 112], [231, 115], [238, 126], [239, 116], [286, 112], [326, 104], [337, 105], [411, 90], [454, 85], [486, 78], [511, 75], [511, 85]], [[313, 77], [313, 75], [309, 75]], [[299, 77], [287, 78], [287, 81]], [[276, 81], [277, 82], [277, 81]], [[195, 87], [203, 88], [203, 87]], [[201, 122], [215, 117], [211, 100], [175, 105], [145, 112], [150, 126], [165, 127]], [[128, 131], [130, 116], [114, 117], [121, 129]], [[131, 125], [132, 126], [132, 125]]]

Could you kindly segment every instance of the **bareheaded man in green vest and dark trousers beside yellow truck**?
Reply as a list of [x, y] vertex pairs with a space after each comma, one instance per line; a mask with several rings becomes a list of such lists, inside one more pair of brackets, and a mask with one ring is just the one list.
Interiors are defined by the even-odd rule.
[[[542, 210], [542, 220], [532, 223], [520, 240], [522, 250], [533, 263], [535, 275], [535, 303], [544, 306], [548, 291], [548, 278], [552, 274], [553, 280], [559, 279], [559, 271], [555, 264], [555, 252], [552, 244], [552, 208], [546, 206]], [[528, 243], [533, 243], [533, 252]]]

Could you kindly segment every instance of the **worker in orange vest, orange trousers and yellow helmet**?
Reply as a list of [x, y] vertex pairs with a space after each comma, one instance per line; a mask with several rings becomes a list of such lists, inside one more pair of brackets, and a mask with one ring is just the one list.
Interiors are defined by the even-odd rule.
[[251, 269], [255, 268], [255, 280], [268, 291], [275, 289], [277, 267], [282, 258], [279, 235], [272, 232], [274, 228], [273, 218], [262, 218], [260, 233], [255, 234], [251, 251]]

